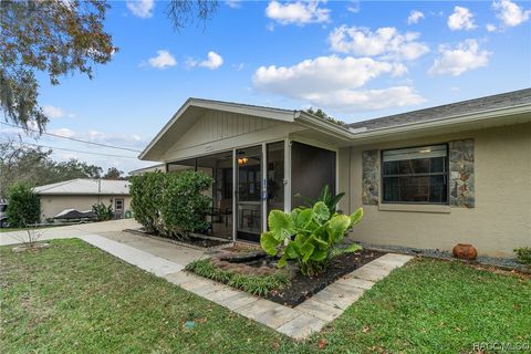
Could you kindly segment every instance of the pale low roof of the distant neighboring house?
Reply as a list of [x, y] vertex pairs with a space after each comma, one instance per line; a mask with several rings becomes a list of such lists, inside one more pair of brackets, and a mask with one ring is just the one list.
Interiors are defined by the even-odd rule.
[[39, 186], [38, 195], [128, 195], [127, 180], [76, 178], [56, 184]]

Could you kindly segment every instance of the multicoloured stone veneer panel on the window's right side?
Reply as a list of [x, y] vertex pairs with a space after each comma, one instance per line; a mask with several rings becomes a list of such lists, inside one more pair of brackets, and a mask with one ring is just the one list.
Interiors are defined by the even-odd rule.
[[450, 206], [473, 208], [473, 139], [448, 143]]

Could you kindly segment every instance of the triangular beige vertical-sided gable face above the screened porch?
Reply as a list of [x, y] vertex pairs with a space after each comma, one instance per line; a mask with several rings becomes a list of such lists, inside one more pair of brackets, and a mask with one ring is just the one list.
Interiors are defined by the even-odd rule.
[[293, 123], [207, 111], [164, 155], [164, 162], [204, 156], [235, 147], [281, 140], [304, 129]]

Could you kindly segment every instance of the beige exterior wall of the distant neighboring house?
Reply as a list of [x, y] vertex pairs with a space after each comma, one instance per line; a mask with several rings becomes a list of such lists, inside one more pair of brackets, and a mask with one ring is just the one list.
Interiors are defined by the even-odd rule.
[[48, 218], [53, 218], [65, 209], [77, 209], [80, 211], [91, 210], [92, 206], [103, 202], [108, 206], [113, 204], [114, 198], [124, 199], [124, 211], [131, 210], [131, 196], [61, 196], [61, 195], [41, 195], [41, 222]]

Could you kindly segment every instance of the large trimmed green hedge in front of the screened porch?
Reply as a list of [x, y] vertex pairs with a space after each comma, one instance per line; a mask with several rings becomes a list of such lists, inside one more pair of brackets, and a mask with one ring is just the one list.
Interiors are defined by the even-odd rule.
[[205, 215], [211, 198], [205, 191], [212, 178], [204, 173], [147, 173], [131, 183], [131, 206], [135, 219], [148, 232], [183, 238], [208, 227]]

